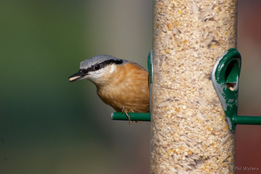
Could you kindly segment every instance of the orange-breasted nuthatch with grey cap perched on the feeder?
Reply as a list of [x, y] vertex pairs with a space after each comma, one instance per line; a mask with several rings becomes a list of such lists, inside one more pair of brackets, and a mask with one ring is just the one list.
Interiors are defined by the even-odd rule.
[[[99, 98], [116, 112], [150, 112], [149, 74], [139, 64], [110, 55], [96, 55], [80, 63], [69, 82], [87, 79], [97, 88]], [[136, 121], [140, 123], [139, 121]]]

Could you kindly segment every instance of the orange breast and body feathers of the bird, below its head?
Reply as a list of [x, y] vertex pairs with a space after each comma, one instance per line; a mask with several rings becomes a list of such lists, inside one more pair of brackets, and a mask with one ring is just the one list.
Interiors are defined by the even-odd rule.
[[117, 112], [125, 107], [128, 111], [150, 112], [148, 72], [135, 63], [117, 65], [110, 74], [111, 82], [97, 87], [103, 102]]

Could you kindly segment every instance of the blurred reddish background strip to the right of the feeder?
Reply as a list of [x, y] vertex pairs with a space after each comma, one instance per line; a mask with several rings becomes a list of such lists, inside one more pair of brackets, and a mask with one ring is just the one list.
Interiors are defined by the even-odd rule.
[[[238, 1], [238, 50], [242, 56], [238, 115], [261, 116], [261, 1]], [[261, 125], [236, 126], [236, 166], [259, 167]]]

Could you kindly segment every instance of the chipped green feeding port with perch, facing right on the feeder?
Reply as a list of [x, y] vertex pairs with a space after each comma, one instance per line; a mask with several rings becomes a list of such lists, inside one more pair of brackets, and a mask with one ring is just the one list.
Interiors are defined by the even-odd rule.
[[219, 57], [211, 74], [213, 86], [227, 116], [230, 131], [235, 130], [236, 124], [261, 124], [261, 117], [237, 115], [240, 69], [241, 55], [237, 49], [231, 48]]

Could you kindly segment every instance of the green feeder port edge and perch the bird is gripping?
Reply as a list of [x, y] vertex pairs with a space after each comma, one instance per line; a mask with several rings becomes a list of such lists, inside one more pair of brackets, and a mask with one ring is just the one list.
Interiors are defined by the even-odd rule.
[[[151, 107], [151, 90], [152, 90], [152, 80], [153, 80], [153, 57], [152, 57], [152, 50], [149, 52], [148, 55], [148, 70], [149, 70], [149, 79], [150, 79], [150, 107]], [[151, 121], [150, 113], [140, 113], [140, 112], [129, 112], [130, 119], [132, 121]], [[111, 113], [112, 120], [129, 120], [128, 117], [121, 112], [112, 112]]]

